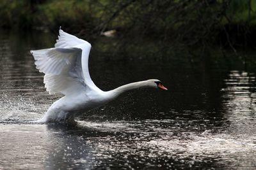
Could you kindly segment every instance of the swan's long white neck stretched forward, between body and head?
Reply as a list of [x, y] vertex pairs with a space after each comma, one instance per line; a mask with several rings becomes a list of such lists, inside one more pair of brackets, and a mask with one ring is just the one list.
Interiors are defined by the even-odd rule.
[[148, 80], [145, 81], [138, 81], [135, 83], [129, 83], [127, 85], [122, 85], [114, 90], [111, 90], [109, 92], [111, 92], [111, 94], [113, 94], [114, 97], [119, 96], [120, 94], [127, 92], [129, 90], [133, 90], [133, 89], [138, 89], [138, 88], [143, 88], [143, 87], [149, 87], [149, 83]]

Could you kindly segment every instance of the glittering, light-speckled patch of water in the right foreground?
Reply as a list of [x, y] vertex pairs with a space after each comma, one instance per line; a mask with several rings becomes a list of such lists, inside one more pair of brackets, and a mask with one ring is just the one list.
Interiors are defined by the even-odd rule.
[[[164, 123], [169, 121], [163, 120]], [[150, 167], [161, 162], [163, 167], [194, 167], [214, 162], [215, 167], [221, 167], [225, 164], [244, 166], [246, 161], [249, 162], [247, 166], [255, 166], [252, 156], [255, 155], [253, 141], [256, 136], [232, 136], [211, 131], [173, 134], [171, 127], [165, 131], [152, 129], [156, 122], [163, 123], [159, 120], [148, 120], [147, 125], [143, 122], [80, 123], [98, 132], [113, 132], [115, 135], [90, 139], [90, 143], [94, 143], [95, 152], [102, 157], [111, 155], [115, 161], [126, 159], [127, 166], [148, 164]], [[134, 164], [132, 159], [140, 160], [140, 163]]]

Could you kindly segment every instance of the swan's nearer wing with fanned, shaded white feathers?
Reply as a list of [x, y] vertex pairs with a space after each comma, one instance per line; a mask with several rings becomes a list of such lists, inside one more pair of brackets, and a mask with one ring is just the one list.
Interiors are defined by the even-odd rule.
[[71, 94], [84, 88], [80, 48], [33, 50], [36, 68], [45, 73], [44, 83], [50, 94]]

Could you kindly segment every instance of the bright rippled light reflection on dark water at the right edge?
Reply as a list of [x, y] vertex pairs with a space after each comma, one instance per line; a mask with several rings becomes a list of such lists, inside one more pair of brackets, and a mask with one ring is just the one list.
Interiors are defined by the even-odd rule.
[[223, 117], [230, 126], [227, 131], [237, 134], [255, 134], [256, 92], [255, 74], [230, 71], [222, 89]]

